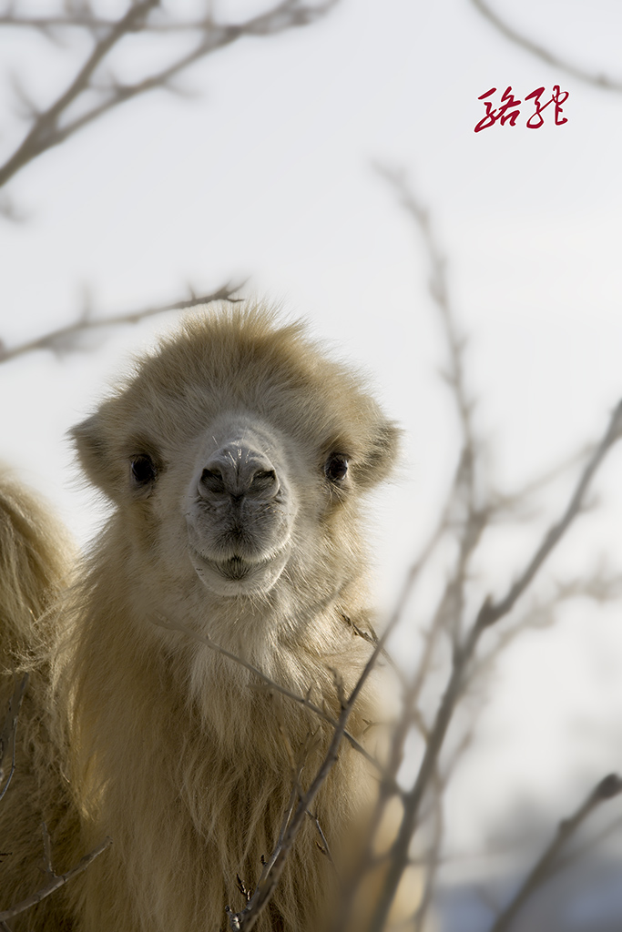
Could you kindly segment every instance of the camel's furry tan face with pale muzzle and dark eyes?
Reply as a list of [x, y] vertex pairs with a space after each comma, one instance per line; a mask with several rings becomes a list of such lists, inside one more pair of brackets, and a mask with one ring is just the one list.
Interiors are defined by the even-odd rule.
[[257, 656], [365, 575], [397, 434], [364, 379], [253, 307], [187, 319], [74, 431], [136, 616]]

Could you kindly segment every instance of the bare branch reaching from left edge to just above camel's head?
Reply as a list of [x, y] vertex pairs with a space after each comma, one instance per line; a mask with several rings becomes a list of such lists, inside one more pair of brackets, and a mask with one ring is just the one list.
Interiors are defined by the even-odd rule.
[[236, 285], [227, 284], [210, 295], [193, 295], [185, 300], [173, 301], [172, 304], [126, 311], [124, 314], [114, 314], [110, 315], [110, 317], [92, 318], [90, 317], [90, 309], [85, 308], [85, 312], [80, 315], [75, 323], [59, 327], [57, 330], [44, 334], [44, 336], [37, 336], [34, 340], [28, 340], [26, 343], [21, 343], [19, 346], [12, 348], [6, 348], [0, 343], [0, 363], [7, 363], [9, 359], [23, 356], [35, 349], [52, 349], [54, 352], [67, 352], [76, 349], [76, 337], [89, 330], [103, 330], [121, 324], [138, 323], [147, 317], [163, 314], [167, 310], [187, 310], [203, 304], [210, 304], [212, 301], [236, 302], [240, 299], [233, 297], [233, 295], [240, 291], [242, 286], [243, 282]]

